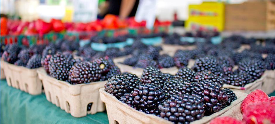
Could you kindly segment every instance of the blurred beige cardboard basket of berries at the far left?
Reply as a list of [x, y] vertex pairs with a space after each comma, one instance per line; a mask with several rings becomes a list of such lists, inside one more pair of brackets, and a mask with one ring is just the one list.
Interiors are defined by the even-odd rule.
[[31, 95], [42, 93], [42, 83], [38, 78], [37, 69], [29, 69], [8, 62], [1, 62], [9, 86], [25, 91]]

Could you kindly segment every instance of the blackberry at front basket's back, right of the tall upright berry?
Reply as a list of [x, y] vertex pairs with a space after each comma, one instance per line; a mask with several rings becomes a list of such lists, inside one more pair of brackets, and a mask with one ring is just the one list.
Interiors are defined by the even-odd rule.
[[176, 73], [175, 77], [193, 82], [195, 81], [195, 75], [196, 75], [195, 71], [185, 67], [185, 68], [178, 69], [178, 72]]

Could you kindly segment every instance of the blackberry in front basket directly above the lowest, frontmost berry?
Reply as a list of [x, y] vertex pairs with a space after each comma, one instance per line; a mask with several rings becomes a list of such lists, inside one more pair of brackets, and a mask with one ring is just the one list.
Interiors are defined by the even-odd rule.
[[178, 94], [178, 95], [183, 95], [183, 94], [191, 94], [191, 92], [194, 90], [195, 82], [190, 82], [190, 81], [183, 81], [178, 83], [176, 87], [174, 87], [173, 93], [172, 94]]

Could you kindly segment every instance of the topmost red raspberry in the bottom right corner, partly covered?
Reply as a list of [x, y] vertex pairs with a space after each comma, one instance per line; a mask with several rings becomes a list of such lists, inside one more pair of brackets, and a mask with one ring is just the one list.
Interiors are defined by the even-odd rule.
[[250, 94], [248, 94], [247, 97], [243, 99], [243, 102], [241, 103], [241, 106], [240, 106], [241, 112], [243, 113], [243, 111], [251, 103], [265, 102], [265, 101], [268, 101], [268, 99], [269, 97], [264, 91], [260, 89], [256, 89], [253, 92], [250, 92]]

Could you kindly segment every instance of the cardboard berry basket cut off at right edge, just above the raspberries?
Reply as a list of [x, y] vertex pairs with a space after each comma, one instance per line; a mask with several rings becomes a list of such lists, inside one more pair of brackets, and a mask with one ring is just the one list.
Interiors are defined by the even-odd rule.
[[266, 77], [263, 81], [262, 90], [270, 94], [275, 90], [275, 70], [266, 70], [264, 71], [264, 75]]

